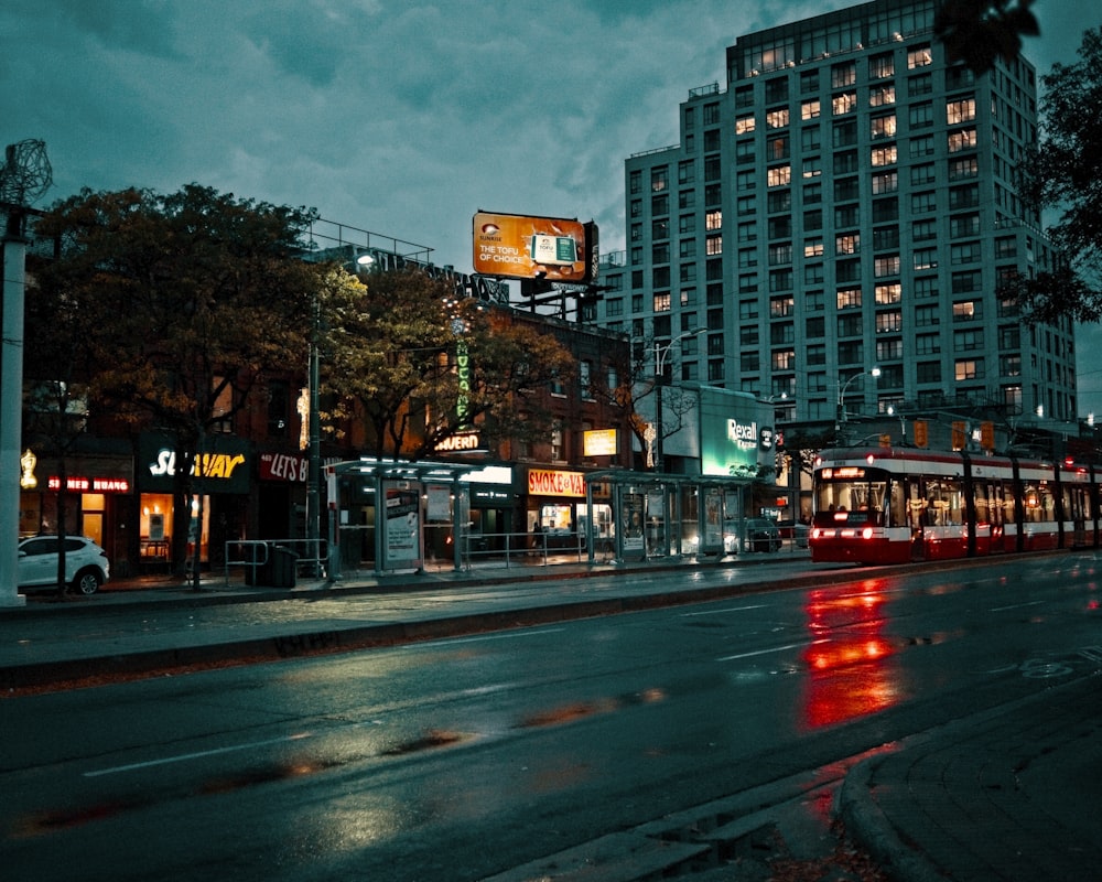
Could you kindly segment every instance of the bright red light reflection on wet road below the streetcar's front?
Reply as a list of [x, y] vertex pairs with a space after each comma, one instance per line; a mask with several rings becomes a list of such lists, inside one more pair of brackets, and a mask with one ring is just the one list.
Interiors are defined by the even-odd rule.
[[899, 699], [895, 647], [883, 635], [887, 600], [875, 580], [808, 594], [813, 643], [803, 653], [808, 682], [802, 723], [836, 725], [876, 713]]

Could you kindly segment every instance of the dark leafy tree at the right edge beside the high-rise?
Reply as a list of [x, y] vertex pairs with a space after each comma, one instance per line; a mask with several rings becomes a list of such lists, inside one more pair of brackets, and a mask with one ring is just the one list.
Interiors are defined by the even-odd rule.
[[1083, 34], [1079, 58], [1041, 77], [1040, 139], [1017, 169], [1023, 200], [1060, 212], [1048, 233], [1062, 260], [1008, 286], [1028, 316], [1049, 323], [1102, 319], [1102, 29]]

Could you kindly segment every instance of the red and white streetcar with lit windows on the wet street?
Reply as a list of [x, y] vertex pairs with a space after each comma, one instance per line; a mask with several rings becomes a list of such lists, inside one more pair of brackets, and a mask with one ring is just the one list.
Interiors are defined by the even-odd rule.
[[1071, 461], [838, 448], [815, 459], [813, 561], [904, 563], [1098, 547], [1099, 476]]

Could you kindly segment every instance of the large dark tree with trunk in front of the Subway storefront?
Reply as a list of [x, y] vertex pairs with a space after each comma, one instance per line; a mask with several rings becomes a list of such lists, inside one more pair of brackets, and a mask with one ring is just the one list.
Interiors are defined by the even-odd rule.
[[[306, 363], [320, 272], [300, 255], [315, 218], [191, 184], [169, 195], [84, 190], [37, 224], [57, 247], [34, 277], [83, 321], [90, 398], [174, 440], [177, 572], [210, 430], [246, 406], [267, 368]], [[55, 330], [42, 318], [31, 346]], [[193, 574], [198, 588], [198, 566]]]

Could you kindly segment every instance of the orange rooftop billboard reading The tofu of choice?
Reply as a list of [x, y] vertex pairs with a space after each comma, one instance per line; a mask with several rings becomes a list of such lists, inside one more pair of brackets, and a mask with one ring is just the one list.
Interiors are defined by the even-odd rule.
[[595, 278], [596, 224], [478, 212], [472, 233], [478, 275], [572, 284]]

